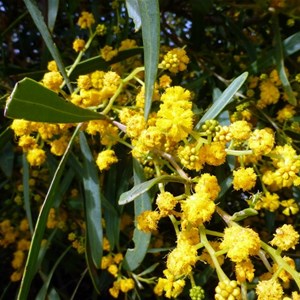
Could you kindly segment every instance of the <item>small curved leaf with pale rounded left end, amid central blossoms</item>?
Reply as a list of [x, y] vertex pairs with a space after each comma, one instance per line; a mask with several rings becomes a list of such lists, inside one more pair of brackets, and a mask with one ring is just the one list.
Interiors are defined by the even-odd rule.
[[159, 182], [179, 182], [185, 183], [186, 180], [179, 176], [172, 176], [172, 175], [162, 175], [159, 177], [155, 177], [148, 181], [142, 182], [140, 184], [135, 185], [131, 190], [123, 193], [119, 199], [119, 205], [127, 204], [145, 192], [148, 192], [154, 185]]

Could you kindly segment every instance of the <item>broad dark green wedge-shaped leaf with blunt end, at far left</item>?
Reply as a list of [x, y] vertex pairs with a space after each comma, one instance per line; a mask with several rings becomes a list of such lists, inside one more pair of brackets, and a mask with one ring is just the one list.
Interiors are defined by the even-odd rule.
[[16, 84], [4, 114], [8, 118], [49, 123], [79, 123], [106, 118], [67, 102], [30, 78]]

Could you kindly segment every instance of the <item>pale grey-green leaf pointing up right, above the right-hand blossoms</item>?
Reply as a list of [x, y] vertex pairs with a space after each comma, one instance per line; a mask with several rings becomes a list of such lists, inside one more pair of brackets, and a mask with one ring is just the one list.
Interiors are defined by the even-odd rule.
[[232, 97], [236, 94], [236, 92], [240, 89], [243, 83], [246, 81], [248, 77], [248, 72], [244, 72], [239, 77], [237, 77], [222, 93], [220, 98], [213, 103], [213, 105], [209, 108], [209, 110], [203, 115], [203, 117], [199, 120], [197, 125], [195, 126], [196, 130], [199, 130], [201, 125], [206, 120], [215, 119], [224, 109], [224, 107], [231, 101]]

